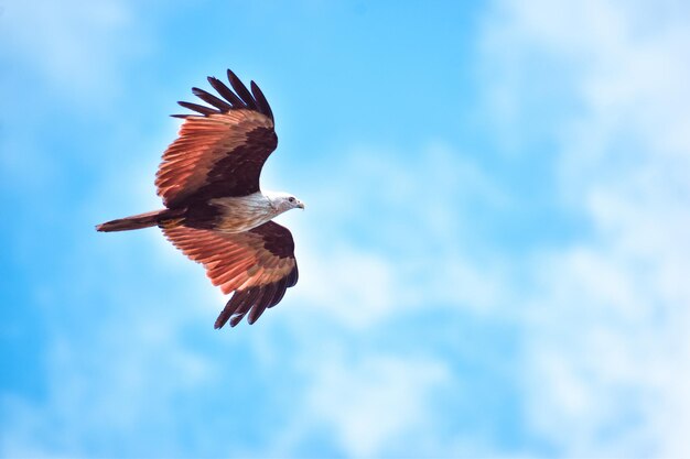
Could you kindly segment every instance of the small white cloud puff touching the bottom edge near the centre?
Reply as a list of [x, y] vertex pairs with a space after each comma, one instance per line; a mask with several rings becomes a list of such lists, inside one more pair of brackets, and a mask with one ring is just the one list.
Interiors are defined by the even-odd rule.
[[308, 409], [349, 457], [411, 453], [433, 436], [431, 396], [449, 376], [431, 360], [370, 354], [344, 362], [332, 356], [308, 389]]

